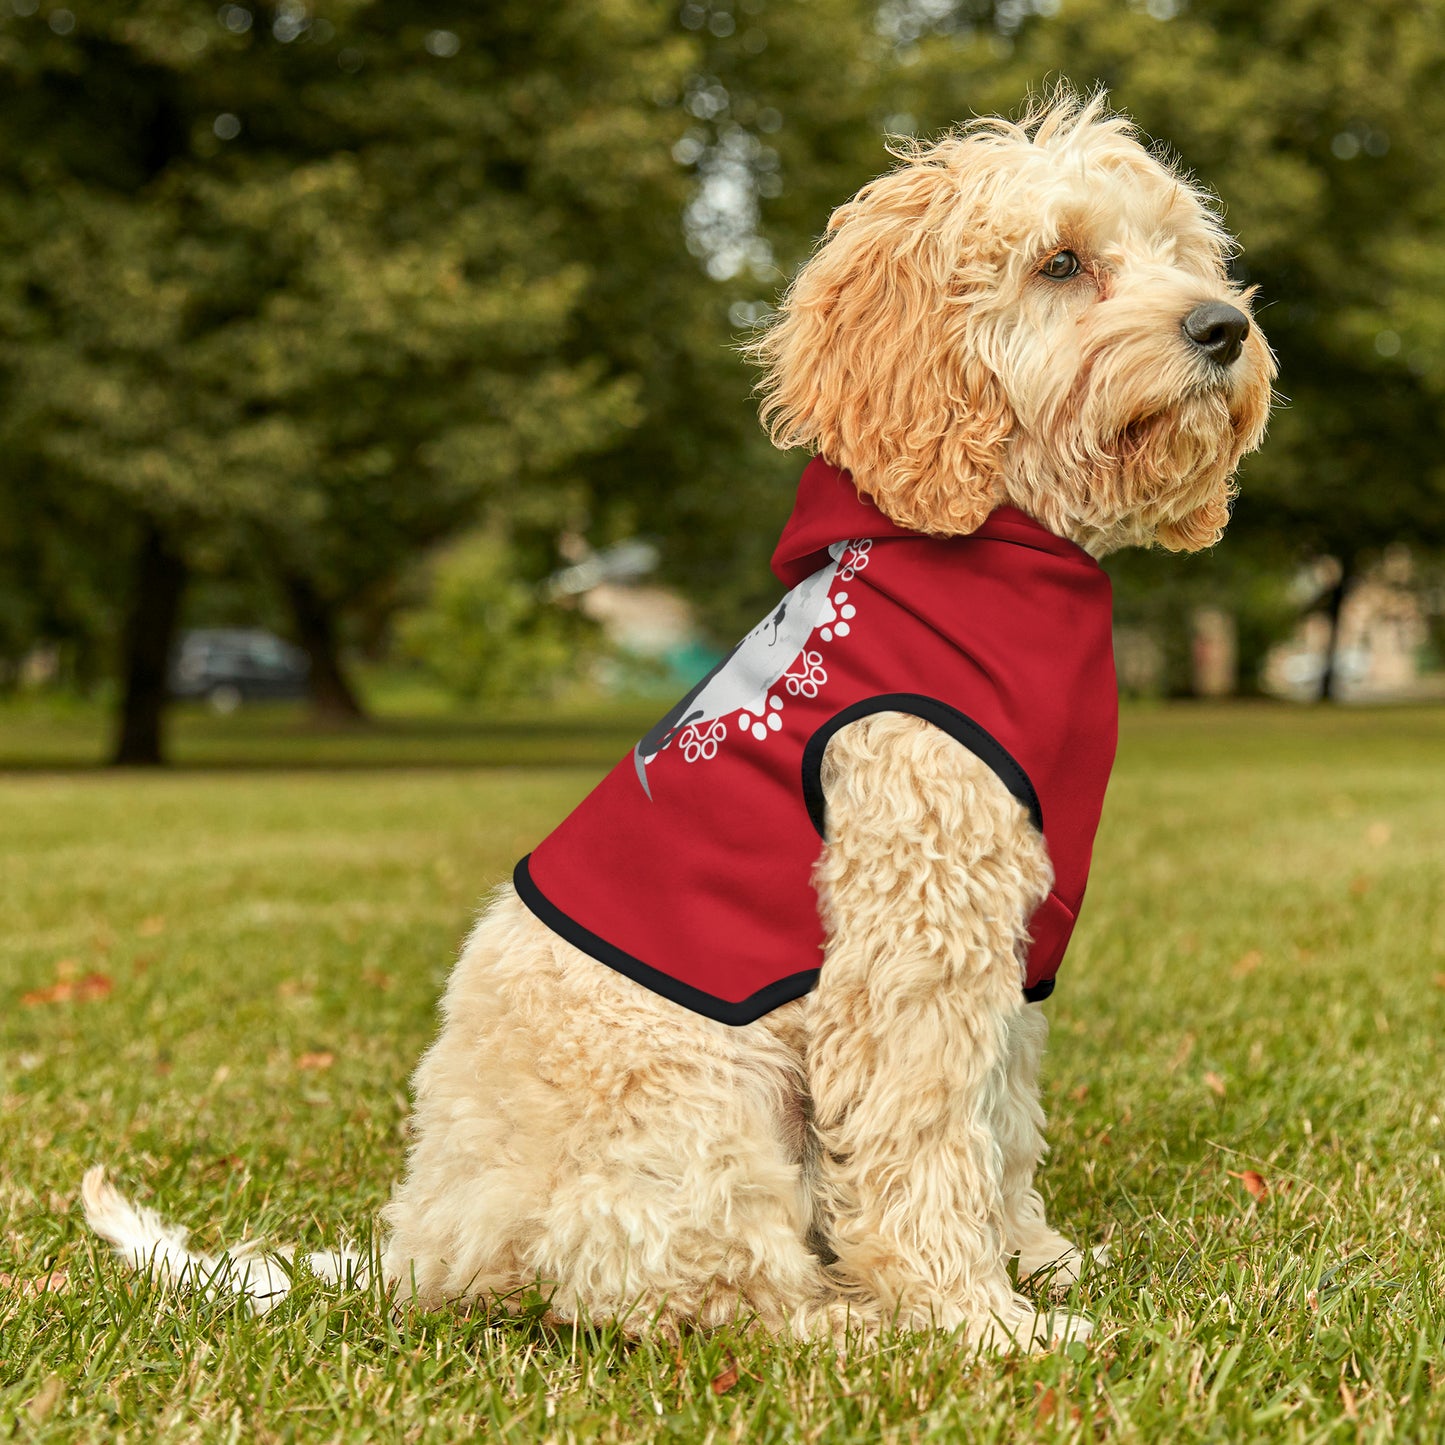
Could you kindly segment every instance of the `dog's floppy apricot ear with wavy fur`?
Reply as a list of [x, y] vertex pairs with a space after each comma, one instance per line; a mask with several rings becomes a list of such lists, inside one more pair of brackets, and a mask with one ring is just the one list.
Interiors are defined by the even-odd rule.
[[845, 467], [902, 526], [954, 535], [1001, 503], [1013, 429], [972, 335], [965, 149], [939, 144], [840, 207], [749, 348], [775, 445]]

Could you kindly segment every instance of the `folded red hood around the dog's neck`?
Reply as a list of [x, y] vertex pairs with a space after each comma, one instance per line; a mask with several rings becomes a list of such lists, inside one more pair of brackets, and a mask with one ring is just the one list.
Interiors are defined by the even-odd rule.
[[997, 507], [977, 532], [961, 538], [929, 538], [928, 533], [900, 527], [886, 517], [879, 507], [858, 493], [853, 473], [844, 471], [815, 457], [803, 468], [798, 483], [798, 499], [793, 513], [783, 527], [773, 551], [773, 575], [785, 587], [796, 587], [828, 561], [828, 548], [835, 542], [853, 538], [915, 538], [932, 542], [967, 540], [988, 538], [997, 542], [1016, 542], [1020, 546], [1038, 548], [1055, 556], [1077, 558], [1097, 568], [1094, 561], [1077, 542], [1056, 536], [1042, 522], [1036, 522], [1017, 507]]

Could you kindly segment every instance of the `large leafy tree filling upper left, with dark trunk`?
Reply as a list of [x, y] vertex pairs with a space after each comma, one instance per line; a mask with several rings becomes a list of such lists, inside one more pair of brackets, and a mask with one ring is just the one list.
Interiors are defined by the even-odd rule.
[[559, 179], [676, 217], [650, 95], [688, 46], [644, 0], [429, 16], [0, 20], [0, 429], [40, 494], [124, 519], [118, 762], [160, 759], [197, 556], [263, 551], [334, 656], [338, 611], [419, 546], [488, 504], [555, 526], [569, 468], [639, 420], [575, 325], [597, 277]]

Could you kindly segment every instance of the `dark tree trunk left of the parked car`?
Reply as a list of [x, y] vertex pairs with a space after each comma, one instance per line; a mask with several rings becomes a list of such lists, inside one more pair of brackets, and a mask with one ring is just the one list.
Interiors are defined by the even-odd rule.
[[111, 763], [159, 767], [166, 708], [166, 672], [181, 616], [186, 568], [155, 523], [146, 523], [136, 555], [130, 613], [123, 634], [124, 692]]

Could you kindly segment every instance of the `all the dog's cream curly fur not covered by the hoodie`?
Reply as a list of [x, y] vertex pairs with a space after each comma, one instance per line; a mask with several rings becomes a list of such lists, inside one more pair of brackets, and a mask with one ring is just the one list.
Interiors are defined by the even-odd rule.
[[[1078, 275], [1049, 279], [1065, 249]], [[980, 121], [840, 208], [756, 347], [764, 413], [925, 532], [1007, 501], [1095, 553], [1208, 545], [1273, 377], [1257, 328], [1227, 367], [1182, 332], [1201, 302], [1247, 308], [1227, 253], [1207, 199], [1101, 101]], [[910, 717], [840, 731], [824, 788], [821, 978], [746, 1027], [610, 971], [499, 890], [416, 1071], [386, 1208], [402, 1299], [540, 1289], [561, 1319], [668, 1337], [733, 1319], [831, 1340], [941, 1325], [984, 1347], [1088, 1332], [1007, 1273], [1010, 1256], [1062, 1283], [1081, 1266], [1035, 1188], [1046, 1026], [1020, 959], [1043, 838]], [[91, 1222], [133, 1261], [147, 1241], [172, 1276], [198, 1259], [103, 1202]]]

